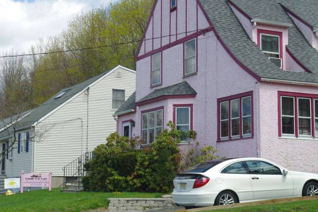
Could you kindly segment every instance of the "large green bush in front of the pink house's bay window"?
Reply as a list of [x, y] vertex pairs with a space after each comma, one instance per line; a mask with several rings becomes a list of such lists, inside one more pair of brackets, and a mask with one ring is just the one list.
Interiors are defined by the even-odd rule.
[[181, 162], [181, 132], [169, 122], [156, 142], [140, 148], [138, 138], [112, 133], [107, 143], [95, 148], [96, 157], [86, 164], [89, 175], [83, 178], [84, 188], [91, 191], [167, 192]]

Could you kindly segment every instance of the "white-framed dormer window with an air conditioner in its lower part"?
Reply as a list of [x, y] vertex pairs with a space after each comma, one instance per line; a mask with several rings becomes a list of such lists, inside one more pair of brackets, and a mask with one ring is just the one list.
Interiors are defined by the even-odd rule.
[[278, 35], [260, 34], [261, 50], [268, 56], [268, 59], [279, 68], [282, 68], [282, 58], [280, 58], [280, 37]]

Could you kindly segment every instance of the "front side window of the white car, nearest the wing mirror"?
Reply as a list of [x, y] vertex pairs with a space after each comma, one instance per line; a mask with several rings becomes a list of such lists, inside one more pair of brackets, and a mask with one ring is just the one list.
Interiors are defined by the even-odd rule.
[[261, 161], [261, 160], [247, 160], [245, 161], [251, 174], [264, 174], [264, 175], [281, 175], [282, 172], [277, 166]]

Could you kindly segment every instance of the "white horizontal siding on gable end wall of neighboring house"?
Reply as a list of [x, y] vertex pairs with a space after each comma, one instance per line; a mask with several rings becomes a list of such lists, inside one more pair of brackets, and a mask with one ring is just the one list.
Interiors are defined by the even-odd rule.
[[[116, 132], [112, 110], [112, 89], [126, 90], [129, 97], [135, 91], [135, 73], [116, 70], [99, 80], [89, 89], [88, 151], [106, 142], [106, 137]], [[86, 152], [87, 95], [82, 92], [35, 127], [43, 135], [35, 143], [34, 169], [52, 170], [53, 176], [63, 176], [62, 167]], [[44, 132], [44, 133], [41, 133]]]

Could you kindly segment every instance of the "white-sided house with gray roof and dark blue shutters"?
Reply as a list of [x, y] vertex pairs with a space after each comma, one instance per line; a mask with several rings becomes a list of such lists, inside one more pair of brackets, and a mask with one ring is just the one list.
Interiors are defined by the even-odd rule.
[[[18, 142], [14, 145], [12, 158], [10, 154], [5, 158], [2, 175], [19, 177], [22, 170], [26, 173], [52, 170], [53, 184], [61, 185], [63, 166], [84, 154], [86, 148], [92, 151], [106, 143], [106, 137], [116, 132], [112, 115], [134, 92], [135, 75], [135, 71], [117, 66], [61, 90], [33, 109], [18, 122], [23, 130], [17, 132], [17, 138], [19, 133], [22, 137], [26, 132], [30, 134], [28, 151], [22, 150], [26, 139], [20, 138], [20, 147]], [[8, 142], [7, 132], [0, 132], [0, 144]]]

